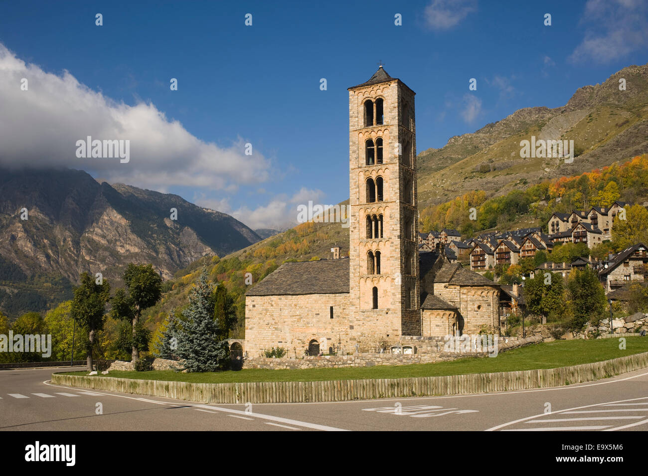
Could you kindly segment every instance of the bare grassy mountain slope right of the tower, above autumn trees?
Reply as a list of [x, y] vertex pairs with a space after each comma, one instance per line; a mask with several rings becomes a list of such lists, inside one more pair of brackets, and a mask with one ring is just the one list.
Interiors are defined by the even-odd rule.
[[[619, 80], [625, 91], [619, 91]], [[421, 133], [419, 132], [419, 135]], [[520, 157], [520, 141], [573, 140], [575, 159]], [[648, 64], [578, 89], [562, 108], [524, 108], [417, 159], [419, 207], [469, 190], [503, 195], [526, 183], [575, 176], [648, 152]]]

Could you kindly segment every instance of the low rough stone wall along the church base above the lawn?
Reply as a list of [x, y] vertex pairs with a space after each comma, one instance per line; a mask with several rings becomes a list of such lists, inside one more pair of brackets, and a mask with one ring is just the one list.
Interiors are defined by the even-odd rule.
[[[508, 340], [508, 341], [507, 341]], [[526, 339], [498, 339], [498, 352], [536, 344], [542, 341], [537, 335]], [[413, 363], [435, 363], [461, 359], [462, 357], [485, 357], [487, 352], [443, 352], [443, 337], [432, 337], [421, 340], [401, 341], [402, 345], [416, 346], [416, 354], [376, 354], [375, 352], [360, 352], [348, 356], [305, 356], [300, 359], [281, 357], [248, 357], [243, 361], [243, 368], [316, 368], [316, 367], [374, 367], [375, 365], [410, 365]], [[115, 369], [117, 370], [117, 369]]]

